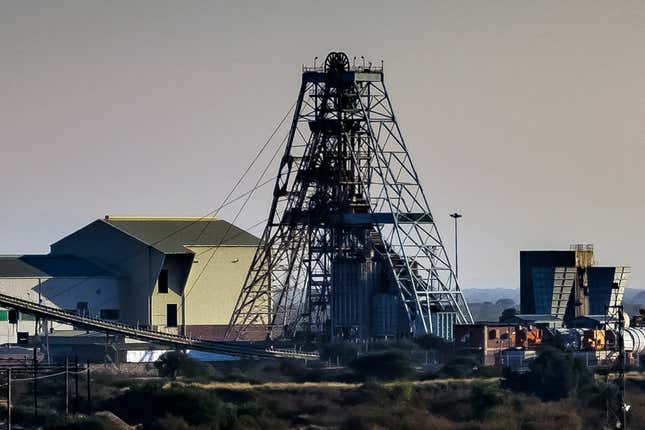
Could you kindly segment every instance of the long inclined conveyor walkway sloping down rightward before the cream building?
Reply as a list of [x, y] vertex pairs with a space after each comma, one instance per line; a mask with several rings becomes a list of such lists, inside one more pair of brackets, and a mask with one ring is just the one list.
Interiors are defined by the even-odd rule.
[[118, 333], [126, 337], [146, 342], [170, 345], [186, 349], [194, 349], [204, 352], [227, 354], [244, 358], [294, 358], [301, 360], [317, 360], [319, 355], [313, 352], [302, 352], [290, 349], [258, 348], [253, 345], [241, 345], [234, 342], [217, 342], [191, 337], [179, 336], [169, 333], [161, 333], [154, 330], [147, 330], [113, 321], [106, 321], [99, 318], [86, 317], [66, 312], [62, 309], [44, 306], [28, 300], [0, 294], [0, 305], [16, 309], [48, 320], [55, 320], [63, 323], [83, 327], [92, 331]]

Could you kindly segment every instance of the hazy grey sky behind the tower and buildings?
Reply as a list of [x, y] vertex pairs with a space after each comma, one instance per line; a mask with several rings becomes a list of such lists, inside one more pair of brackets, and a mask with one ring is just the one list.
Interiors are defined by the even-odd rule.
[[645, 287], [644, 44], [642, 0], [0, 0], [0, 252], [214, 209], [301, 65], [343, 50], [385, 61], [449, 250], [464, 214], [462, 286], [517, 287], [520, 249], [594, 243]]

